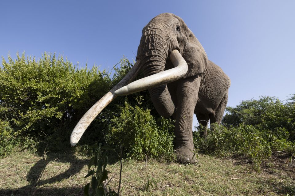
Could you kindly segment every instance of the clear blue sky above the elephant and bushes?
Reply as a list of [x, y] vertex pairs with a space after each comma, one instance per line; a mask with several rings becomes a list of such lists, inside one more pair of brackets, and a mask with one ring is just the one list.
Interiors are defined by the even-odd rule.
[[[0, 55], [67, 56], [110, 69], [135, 58], [156, 15], [181, 17], [231, 79], [228, 106], [295, 93], [295, 1], [1, 1]], [[195, 123], [195, 120], [194, 120]]]

